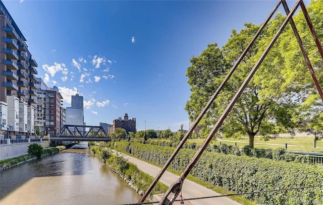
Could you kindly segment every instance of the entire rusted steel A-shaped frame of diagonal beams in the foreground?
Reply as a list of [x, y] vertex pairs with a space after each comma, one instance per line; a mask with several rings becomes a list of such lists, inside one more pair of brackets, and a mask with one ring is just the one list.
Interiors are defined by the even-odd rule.
[[[237, 67], [240, 64], [240, 62], [242, 61], [243, 57], [249, 51], [250, 47], [255, 42], [256, 38], [262, 32], [263, 28], [267, 25], [267, 23], [271, 20], [271, 18], [273, 17], [273, 15], [275, 14], [275, 12], [277, 11], [278, 7], [281, 4], [283, 5], [284, 10], [285, 10], [285, 12], [287, 14], [287, 17], [286, 17], [285, 21], [283, 22], [283, 24], [281, 25], [281, 27], [279, 28], [279, 30], [277, 31], [277, 33], [273, 37], [273, 39], [270, 42], [270, 44], [263, 51], [262, 55], [260, 56], [260, 58], [258, 59], [258, 61], [256, 62], [256, 64], [253, 66], [253, 68], [250, 71], [249, 75], [246, 77], [246, 79], [242, 83], [241, 87], [239, 88], [239, 90], [237, 91], [237, 93], [235, 94], [235, 96], [232, 98], [232, 100], [230, 101], [230, 103], [228, 104], [227, 108], [223, 111], [223, 113], [220, 116], [220, 118], [218, 119], [217, 123], [213, 126], [212, 130], [208, 134], [208, 136], [205, 139], [205, 141], [203, 142], [203, 144], [199, 147], [199, 149], [197, 150], [197, 152], [195, 153], [195, 155], [193, 156], [193, 158], [191, 159], [191, 161], [188, 163], [188, 165], [185, 168], [185, 170], [183, 171], [182, 175], [179, 177], [178, 180], [176, 180], [169, 187], [169, 189], [167, 190], [167, 192], [164, 194], [163, 198], [161, 198], [161, 200], [159, 201], [159, 204], [160, 205], [173, 204], [173, 202], [175, 201], [175, 199], [177, 198], [177, 196], [179, 195], [179, 193], [182, 190], [182, 185], [183, 185], [184, 179], [187, 177], [187, 175], [189, 174], [189, 172], [191, 171], [191, 169], [193, 168], [193, 166], [196, 164], [196, 162], [198, 161], [198, 159], [202, 155], [203, 151], [205, 150], [206, 146], [211, 141], [213, 135], [218, 131], [219, 127], [222, 125], [223, 121], [225, 120], [225, 118], [227, 117], [227, 115], [229, 114], [229, 112], [231, 111], [232, 107], [235, 105], [235, 103], [237, 102], [238, 98], [241, 96], [242, 92], [244, 91], [244, 89], [248, 85], [249, 81], [251, 80], [251, 78], [253, 77], [253, 75], [255, 74], [255, 72], [257, 71], [258, 67], [262, 63], [263, 59], [266, 57], [267, 53], [271, 50], [272, 46], [274, 45], [274, 43], [276, 42], [276, 40], [280, 36], [281, 32], [284, 30], [284, 28], [286, 27], [286, 25], [288, 23], [291, 24], [291, 27], [293, 29], [293, 32], [295, 34], [295, 37], [296, 37], [297, 42], [299, 44], [299, 47], [300, 47], [300, 49], [302, 51], [302, 54], [303, 54], [303, 56], [305, 58], [306, 64], [308, 66], [308, 69], [309, 69], [310, 74], [312, 76], [312, 79], [314, 81], [315, 87], [317, 88], [317, 91], [319, 93], [319, 96], [320, 96], [321, 100], [323, 101], [323, 92], [322, 92], [322, 89], [321, 89], [321, 87], [320, 87], [320, 85], [319, 85], [319, 83], [318, 83], [318, 81], [316, 79], [315, 72], [313, 70], [312, 64], [311, 64], [311, 62], [310, 62], [310, 60], [308, 58], [308, 55], [307, 55], [307, 53], [305, 51], [305, 47], [303, 45], [303, 42], [302, 42], [302, 40], [300, 38], [300, 35], [299, 35], [298, 31], [297, 31], [296, 25], [295, 25], [294, 20], [293, 20], [294, 13], [296, 12], [296, 10], [299, 7], [301, 7], [301, 10], [302, 10], [302, 12], [303, 12], [303, 14], [305, 16], [307, 25], [308, 25], [311, 33], [312, 33], [312, 36], [313, 36], [314, 41], [315, 41], [315, 44], [316, 44], [316, 46], [318, 48], [318, 52], [319, 52], [319, 54], [321, 55], [321, 57], [323, 59], [323, 49], [322, 49], [322, 46], [320, 45], [320, 42], [319, 42], [319, 39], [318, 39], [318, 37], [316, 35], [316, 32], [314, 30], [314, 27], [313, 27], [313, 25], [311, 23], [311, 20], [309, 18], [308, 13], [307, 13], [307, 10], [306, 10], [306, 7], [304, 5], [304, 2], [302, 0], [298, 0], [297, 3], [295, 4], [295, 6], [292, 8], [292, 10], [289, 10], [289, 7], [288, 7], [288, 5], [286, 3], [286, 0], [280, 0], [277, 3], [277, 5], [274, 8], [274, 10], [271, 12], [271, 14], [267, 17], [267, 19], [261, 25], [261, 27], [259, 28], [259, 30], [255, 34], [255, 36], [253, 37], [253, 39], [251, 40], [251, 42], [248, 44], [248, 46], [246, 47], [246, 49], [243, 51], [243, 53], [241, 54], [241, 56], [237, 59], [237, 61], [235, 62], [234, 66], [231, 68], [229, 74], [224, 79], [224, 81], [222, 82], [222, 84], [219, 86], [219, 88], [217, 89], [217, 91], [211, 96], [211, 98], [209, 99], [209, 101], [205, 105], [204, 109], [202, 110], [202, 112], [199, 114], [199, 116], [195, 120], [194, 124], [189, 128], [188, 132], [186, 132], [184, 138], [180, 141], [180, 143], [178, 144], [178, 146], [174, 150], [173, 154], [167, 160], [167, 162], [164, 165], [164, 167], [161, 168], [161, 170], [159, 171], [159, 173], [157, 174], [157, 176], [155, 177], [154, 181], [151, 183], [151, 185], [149, 186], [149, 188], [142, 195], [142, 197], [140, 198], [139, 202], [143, 202], [146, 199], [146, 197], [148, 196], [148, 194], [150, 193], [150, 191], [152, 190], [152, 188], [155, 186], [155, 184], [157, 183], [157, 181], [160, 179], [161, 175], [164, 174], [164, 172], [166, 171], [166, 169], [168, 168], [168, 166], [171, 164], [172, 160], [175, 158], [175, 156], [177, 155], [177, 153], [183, 147], [184, 143], [188, 139], [188, 136], [195, 129], [195, 127], [197, 126], [197, 124], [199, 123], [199, 121], [202, 119], [203, 115], [206, 113], [206, 111], [208, 110], [208, 108], [210, 107], [210, 105], [212, 104], [212, 102], [217, 98], [217, 96], [219, 95], [220, 91], [223, 89], [223, 87], [226, 85], [226, 83], [228, 82], [228, 80], [230, 79], [230, 77], [232, 76], [232, 74], [234, 73], [234, 71], [237, 69]], [[170, 195], [170, 193], [174, 193], [174, 195], [173, 195], [173, 197], [171, 199], [168, 199], [168, 196]]]

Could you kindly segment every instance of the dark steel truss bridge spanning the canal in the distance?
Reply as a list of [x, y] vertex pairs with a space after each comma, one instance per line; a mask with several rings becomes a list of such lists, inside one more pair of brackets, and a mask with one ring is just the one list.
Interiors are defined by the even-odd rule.
[[[88, 129], [88, 130], [87, 130]], [[69, 125], [66, 124], [62, 127], [57, 134], [60, 136], [75, 137], [75, 138], [107, 138], [107, 133], [102, 126], [89, 126], [89, 125]]]

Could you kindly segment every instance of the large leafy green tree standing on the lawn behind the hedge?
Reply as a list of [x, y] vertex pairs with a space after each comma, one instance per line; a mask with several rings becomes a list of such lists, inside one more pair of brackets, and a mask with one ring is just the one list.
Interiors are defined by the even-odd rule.
[[[309, 8], [309, 12], [314, 14], [314, 17], [311, 17], [313, 23], [319, 22], [316, 18], [321, 18], [319, 8], [323, 5], [322, 1], [317, 2], [313, 2]], [[284, 18], [283, 15], [278, 14], [264, 29], [261, 39], [254, 43], [243, 58], [227, 86], [201, 120], [200, 126], [203, 130], [210, 130], [210, 127], [216, 123]], [[304, 19], [297, 15], [295, 22], [298, 26], [303, 25]], [[321, 22], [320, 20], [320, 24]], [[300, 32], [304, 28], [306, 27], [303, 25]], [[252, 23], [245, 24], [245, 28], [239, 33], [236, 30], [232, 31], [223, 49], [220, 49], [217, 44], [210, 44], [199, 56], [190, 60], [192, 65], [188, 67], [186, 76], [189, 78], [188, 84], [191, 86], [192, 94], [185, 109], [191, 120], [196, 119], [257, 30], [258, 26]], [[309, 30], [307, 35], [310, 36], [308, 32]], [[249, 145], [253, 147], [254, 136], [258, 132], [262, 134], [273, 132], [274, 125], [295, 128], [299, 125], [295, 119], [306, 113], [304, 106], [301, 105], [310, 101], [307, 104], [309, 104], [308, 108], [312, 109], [313, 104], [317, 103], [317, 91], [314, 92], [310, 76], [304, 75], [308, 73], [306, 72], [307, 66], [293, 35], [292, 29], [287, 26], [224, 121], [220, 130], [224, 136], [248, 135]], [[305, 42], [307, 41], [309, 40], [305, 39]], [[321, 60], [318, 59], [317, 54], [311, 54], [315, 47], [308, 48], [310, 57], [314, 59], [315, 68], [321, 71]], [[322, 74], [318, 75], [320, 80], [322, 80], [321, 76]], [[304, 93], [306, 95], [303, 95]], [[311, 94], [316, 98], [311, 97]], [[315, 117], [310, 115], [309, 118]]]

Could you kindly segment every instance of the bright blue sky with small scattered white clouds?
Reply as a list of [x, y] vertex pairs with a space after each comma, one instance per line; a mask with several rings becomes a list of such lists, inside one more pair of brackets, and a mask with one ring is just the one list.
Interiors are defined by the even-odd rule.
[[[189, 59], [260, 24], [277, 1], [4, 1], [64, 106], [84, 96], [87, 125], [129, 117], [137, 130], [188, 129]], [[288, 2], [290, 8], [295, 1]], [[309, 4], [309, 2], [306, 2]], [[282, 10], [282, 9], [281, 9]]]

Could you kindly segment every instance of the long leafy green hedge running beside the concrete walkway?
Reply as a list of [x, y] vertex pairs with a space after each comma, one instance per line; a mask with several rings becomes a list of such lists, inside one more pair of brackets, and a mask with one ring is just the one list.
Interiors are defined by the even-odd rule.
[[[117, 150], [164, 165], [174, 148], [117, 142]], [[183, 149], [170, 165], [183, 171], [196, 151]], [[190, 174], [236, 193], [323, 184], [323, 170], [308, 164], [204, 152]], [[323, 204], [322, 187], [245, 195], [262, 204]]]

